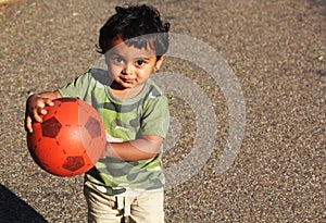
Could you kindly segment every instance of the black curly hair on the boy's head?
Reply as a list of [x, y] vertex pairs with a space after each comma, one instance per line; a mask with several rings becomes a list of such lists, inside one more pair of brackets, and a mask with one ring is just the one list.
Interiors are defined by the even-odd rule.
[[116, 7], [115, 11], [100, 29], [98, 52], [108, 52], [116, 38], [138, 49], [151, 47], [158, 58], [167, 51], [170, 23], [162, 22], [155, 8], [142, 4]]

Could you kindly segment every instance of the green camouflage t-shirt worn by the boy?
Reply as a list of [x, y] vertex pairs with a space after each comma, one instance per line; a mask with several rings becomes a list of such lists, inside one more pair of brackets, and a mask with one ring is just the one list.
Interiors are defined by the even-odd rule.
[[[92, 69], [59, 91], [63, 97], [78, 97], [96, 108], [110, 143], [130, 141], [141, 135], [164, 138], [170, 112], [162, 90], [148, 79], [136, 97], [122, 100], [111, 94], [111, 83], [106, 71]], [[155, 158], [149, 160], [100, 159], [86, 175], [93, 183], [105, 186], [109, 195], [161, 189], [164, 185], [162, 148]]]

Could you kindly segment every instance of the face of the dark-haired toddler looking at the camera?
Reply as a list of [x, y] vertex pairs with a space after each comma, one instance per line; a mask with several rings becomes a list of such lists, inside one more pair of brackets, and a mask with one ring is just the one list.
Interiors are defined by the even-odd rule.
[[121, 89], [142, 88], [152, 72], [161, 67], [164, 60], [156, 60], [153, 49], [138, 49], [127, 46], [121, 38], [114, 40], [113, 47], [105, 53], [109, 74]]

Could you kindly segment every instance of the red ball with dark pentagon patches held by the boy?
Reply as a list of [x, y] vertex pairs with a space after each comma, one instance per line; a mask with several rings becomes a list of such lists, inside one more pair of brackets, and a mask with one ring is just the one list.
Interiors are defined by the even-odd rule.
[[58, 176], [74, 176], [90, 170], [106, 143], [99, 113], [83, 100], [60, 98], [46, 107], [43, 122], [34, 122], [27, 145], [34, 161]]

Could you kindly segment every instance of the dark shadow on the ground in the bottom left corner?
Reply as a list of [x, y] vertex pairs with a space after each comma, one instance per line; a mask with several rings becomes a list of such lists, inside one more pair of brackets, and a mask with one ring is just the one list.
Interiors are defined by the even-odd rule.
[[47, 221], [24, 200], [0, 184], [0, 222], [43, 223]]

